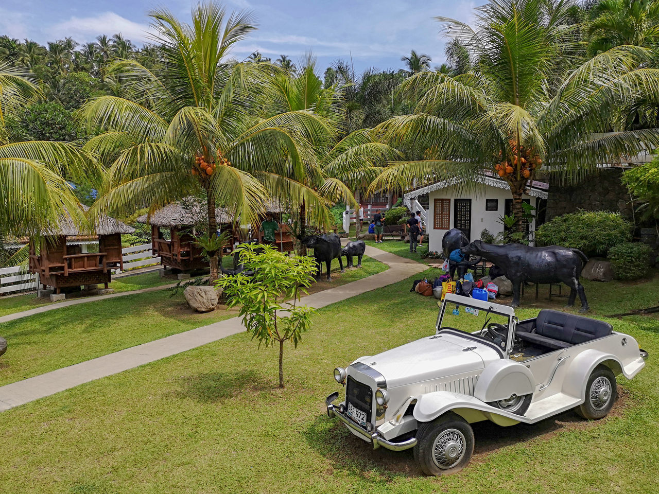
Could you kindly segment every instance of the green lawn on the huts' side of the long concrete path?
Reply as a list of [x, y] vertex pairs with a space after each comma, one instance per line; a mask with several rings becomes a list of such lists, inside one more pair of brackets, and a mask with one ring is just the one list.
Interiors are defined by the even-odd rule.
[[[386, 269], [379, 261], [363, 258], [361, 269], [341, 274], [335, 263], [333, 280], [328, 282], [323, 278], [312, 285], [310, 293], [345, 285]], [[134, 290], [148, 281], [147, 276], [124, 278], [121, 288]], [[128, 281], [133, 284], [129, 285]], [[2, 323], [0, 335], [7, 339], [9, 350], [0, 358], [0, 385], [236, 315], [237, 310], [227, 312], [223, 308], [207, 314], [190, 310], [181, 287], [174, 297], [167, 290], [159, 290], [62, 307]]]

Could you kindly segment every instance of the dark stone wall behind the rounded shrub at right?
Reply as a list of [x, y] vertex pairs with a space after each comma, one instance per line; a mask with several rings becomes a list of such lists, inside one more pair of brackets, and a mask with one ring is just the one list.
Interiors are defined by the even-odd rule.
[[587, 211], [619, 211], [631, 221], [633, 206], [627, 188], [620, 182], [622, 170], [606, 169], [591, 175], [577, 185], [550, 184], [547, 199], [546, 220], [573, 213], [577, 209]]

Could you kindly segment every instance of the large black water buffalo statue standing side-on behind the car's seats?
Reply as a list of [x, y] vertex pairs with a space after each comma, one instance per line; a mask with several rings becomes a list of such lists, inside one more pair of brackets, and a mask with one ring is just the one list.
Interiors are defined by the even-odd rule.
[[482, 256], [486, 260], [496, 263], [503, 269], [505, 277], [513, 283], [513, 303], [519, 306], [519, 289], [523, 282], [533, 283], [560, 283], [570, 287], [570, 296], [567, 305], [573, 306], [579, 294], [581, 309], [588, 310], [586, 292], [579, 277], [581, 269], [588, 262], [581, 250], [570, 249], [552, 245], [549, 247], [529, 247], [522, 244], [494, 245], [486, 244], [482, 240], [474, 240], [462, 249], [463, 254]]

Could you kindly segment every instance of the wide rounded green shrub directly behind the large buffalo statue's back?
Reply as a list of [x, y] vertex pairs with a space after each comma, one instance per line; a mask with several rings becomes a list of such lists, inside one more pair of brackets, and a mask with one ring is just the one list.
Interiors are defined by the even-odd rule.
[[536, 242], [579, 249], [587, 256], [604, 256], [612, 246], [631, 240], [631, 229], [631, 223], [620, 213], [581, 210], [538, 227]]

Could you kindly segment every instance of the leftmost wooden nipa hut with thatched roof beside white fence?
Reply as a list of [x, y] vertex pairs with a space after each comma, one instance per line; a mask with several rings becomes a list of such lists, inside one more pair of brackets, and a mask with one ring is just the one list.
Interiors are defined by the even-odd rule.
[[[39, 238], [30, 238], [30, 273], [39, 275], [43, 288], [53, 287], [57, 294], [64, 287], [100, 283], [107, 289], [110, 270], [123, 269], [121, 234], [125, 233], [134, 233], [134, 229], [106, 215], [100, 215], [93, 232], [81, 231], [70, 216], [60, 217]], [[91, 243], [98, 243], [98, 252], [83, 252]]]

